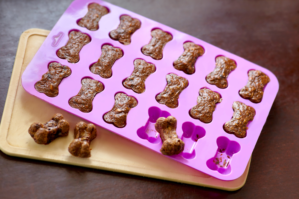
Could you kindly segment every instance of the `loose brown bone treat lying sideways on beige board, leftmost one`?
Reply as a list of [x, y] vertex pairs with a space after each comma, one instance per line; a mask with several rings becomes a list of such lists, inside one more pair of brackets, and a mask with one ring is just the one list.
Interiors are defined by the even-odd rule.
[[34, 122], [28, 132], [37, 144], [50, 144], [56, 138], [67, 136], [69, 130], [68, 121], [57, 113], [45, 124]]

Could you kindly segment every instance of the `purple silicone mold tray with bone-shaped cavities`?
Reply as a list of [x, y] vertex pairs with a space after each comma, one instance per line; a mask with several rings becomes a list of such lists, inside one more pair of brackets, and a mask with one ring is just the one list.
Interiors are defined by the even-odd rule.
[[[87, 6], [90, 3], [98, 3], [109, 9], [109, 13], [100, 19], [99, 29], [96, 31], [90, 31], [77, 24], [77, 20], [87, 13]], [[141, 28], [131, 35], [129, 45], [120, 44], [109, 37], [109, 32], [118, 27], [119, 18], [124, 14], [141, 21]], [[152, 38], [150, 32], [154, 28], [160, 28], [173, 36], [173, 39], [164, 47], [161, 60], [154, 60], [142, 54], [140, 50]], [[84, 45], [80, 50], [80, 60], [75, 64], [69, 63], [66, 59], [60, 59], [56, 55], [57, 50], [67, 43], [68, 33], [71, 30], [79, 30], [91, 38], [90, 43]], [[196, 70], [192, 75], [187, 75], [173, 67], [173, 61], [184, 52], [183, 44], [186, 41], [192, 41], [205, 49], [205, 53], [197, 59]], [[107, 79], [93, 74], [89, 70], [90, 65], [100, 57], [103, 44], [111, 44], [123, 50], [123, 57], [115, 61], [112, 67], [112, 76]], [[228, 75], [228, 87], [225, 89], [210, 85], [205, 80], [206, 75], [214, 70], [215, 58], [219, 55], [227, 56], [237, 63], [237, 68]], [[122, 84], [122, 81], [129, 77], [134, 70], [133, 62], [136, 58], [144, 59], [156, 67], [156, 71], [146, 79], [146, 90], [141, 94], [126, 89]], [[71, 75], [62, 79], [59, 85], [59, 94], [53, 98], [37, 92], [34, 88], [34, 84], [48, 71], [48, 63], [52, 61], [71, 68]], [[258, 104], [243, 99], [239, 95], [239, 90], [248, 81], [247, 72], [251, 69], [261, 70], [271, 80], [264, 89], [263, 100]], [[179, 95], [179, 106], [174, 109], [159, 104], [155, 99], [156, 94], [164, 90], [167, 84], [166, 75], [169, 73], [175, 73], [189, 81], [188, 87]], [[102, 92], [95, 95], [92, 102], [93, 108], [89, 113], [83, 113], [68, 104], [68, 100], [78, 94], [81, 88], [81, 79], [84, 77], [100, 81], [105, 86]], [[71, 3], [22, 74], [22, 85], [30, 94], [158, 153], [160, 153], [162, 142], [159, 134], [155, 132], [155, 120], [160, 116], [172, 115], [178, 121], [176, 130], [178, 137], [185, 142], [185, 149], [179, 155], [167, 157], [221, 180], [234, 180], [245, 171], [279, 88], [277, 78], [263, 67], [198, 38], [100, 0], [75, 0]], [[198, 91], [202, 87], [208, 87], [218, 92], [223, 98], [221, 103], [216, 104], [213, 120], [208, 124], [193, 119], [189, 115], [190, 108], [196, 105]], [[112, 109], [115, 102], [114, 96], [118, 92], [133, 96], [138, 101], [138, 105], [129, 111], [126, 126], [123, 128], [115, 127], [103, 120], [103, 115]], [[256, 110], [254, 120], [248, 123], [247, 136], [242, 139], [226, 133], [222, 128], [223, 124], [229, 121], [233, 115], [232, 104], [234, 101], [243, 102]], [[225, 149], [222, 154], [225, 153], [234, 159], [231, 161], [231, 158], [226, 158], [226, 162], [228, 159], [230, 160], [225, 168], [216, 165], [217, 161], [213, 162], [213, 160], [217, 160], [216, 158], [220, 158], [220, 149]]]

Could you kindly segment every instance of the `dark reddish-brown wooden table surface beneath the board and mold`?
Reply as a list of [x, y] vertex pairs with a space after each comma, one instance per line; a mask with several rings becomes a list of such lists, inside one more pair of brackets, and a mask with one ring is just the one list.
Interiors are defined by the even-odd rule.
[[[21, 33], [51, 30], [71, 1], [0, 0], [0, 115]], [[299, 1], [108, 1], [277, 76], [280, 89], [247, 182], [228, 192], [0, 152], [0, 198], [299, 198]]]

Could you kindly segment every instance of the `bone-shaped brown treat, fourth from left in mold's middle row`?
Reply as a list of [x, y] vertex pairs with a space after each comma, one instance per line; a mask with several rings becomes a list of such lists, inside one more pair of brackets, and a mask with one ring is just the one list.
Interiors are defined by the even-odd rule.
[[188, 86], [189, 82], [174, 73], [166, 75], [166, 80], [167, 85], [164, 91], [157, 95], [156, 100], [158, 103], [174, 109], [179, 106], [179, 95]]

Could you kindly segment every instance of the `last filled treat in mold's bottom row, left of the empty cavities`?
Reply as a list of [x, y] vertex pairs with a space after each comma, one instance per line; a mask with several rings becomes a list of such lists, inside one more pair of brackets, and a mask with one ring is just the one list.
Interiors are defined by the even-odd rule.
[[126, 126], [128, 112], [131, 108], [136, 107], [137, 104], [137, 100], [132, 96], [124, 93], [116, 94], [114, 106], [111, 111], [104, 115], [104, 121], [119, 128]]

